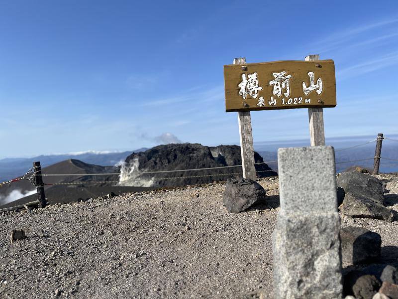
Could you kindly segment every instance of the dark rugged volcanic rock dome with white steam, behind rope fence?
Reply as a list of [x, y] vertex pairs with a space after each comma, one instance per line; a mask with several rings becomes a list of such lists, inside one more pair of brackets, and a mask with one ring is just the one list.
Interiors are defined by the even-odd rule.
[[[264, 162], [254, 152], [255, 163]], [[164, 173], [141, 173], [143, 171], [163, 171], [179, 169], [195, 169], [241, 164], [240, 147], [217, 146], [206, 147], [200, 144], [169, 144], [132, 153], [122, 167], [121, 185], [134, 186], [182, 186], [211, 183], [214, 180], [226, 180], [228, 177], [242, 176], [242, 167], [220, 169], [176, 171]], [[277, 175], [267, 164], [256, 165], [258, 177]]]

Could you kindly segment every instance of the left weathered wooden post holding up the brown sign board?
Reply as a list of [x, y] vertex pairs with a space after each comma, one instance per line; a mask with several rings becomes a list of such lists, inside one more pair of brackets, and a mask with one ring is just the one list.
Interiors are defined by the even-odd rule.
[[[245, 63], [246, 58], [235, 58], [233, 60], [233, 64]], [[254, 167], [252, 121], [250, 111], [239, 111], [238, 122], [243, 177], [256, 180], [256, 168]]]

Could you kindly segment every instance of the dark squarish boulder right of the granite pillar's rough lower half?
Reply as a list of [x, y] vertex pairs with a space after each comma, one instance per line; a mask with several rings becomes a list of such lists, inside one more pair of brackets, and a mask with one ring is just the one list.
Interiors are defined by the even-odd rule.
[[341, 254], [345, 263], [364, 264], [380, 257], [382, 238], [363, 227], [349, 226], [340, 230]]

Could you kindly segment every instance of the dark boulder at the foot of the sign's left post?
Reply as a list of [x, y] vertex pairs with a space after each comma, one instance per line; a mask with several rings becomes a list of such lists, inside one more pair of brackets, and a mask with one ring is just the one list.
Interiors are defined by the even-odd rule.
[[228, 179], [223, 204], [229, 213], [242, 212], [265, 199], [265, 190], [249, 178]]

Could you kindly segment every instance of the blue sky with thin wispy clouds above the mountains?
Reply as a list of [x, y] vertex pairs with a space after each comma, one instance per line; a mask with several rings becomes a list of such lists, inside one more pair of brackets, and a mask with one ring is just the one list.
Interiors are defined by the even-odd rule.
[[[1, 157], [238, 144], [223, 65], [333, 59], [325, 135], [398, 134], [397, 1], [0, 0]], [[307, 109], [252, 112], [255, 142]]]

